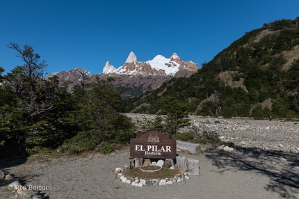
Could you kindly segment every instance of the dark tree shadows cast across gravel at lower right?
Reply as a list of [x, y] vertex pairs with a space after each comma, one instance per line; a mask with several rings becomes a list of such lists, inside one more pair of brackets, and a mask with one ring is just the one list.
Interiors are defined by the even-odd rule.
[[250, 171], [265, 175], [269, 182], [264, 189], [275, 191], [282, 198], [298, 198], [299, 172], [291, 168], [299, 166], [299, 154], [248, 148], [246, 152], [212, 151], [206, 157], [221, 172]]

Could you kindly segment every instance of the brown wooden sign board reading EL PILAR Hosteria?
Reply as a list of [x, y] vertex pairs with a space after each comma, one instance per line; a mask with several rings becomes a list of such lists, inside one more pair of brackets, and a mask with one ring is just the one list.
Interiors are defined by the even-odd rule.
[[177, 157], [177, 141], [168, 139], [161, 132], [150, 131], [131, 138], [131, 157], [143, 158], [165, 158], [175, 159]]

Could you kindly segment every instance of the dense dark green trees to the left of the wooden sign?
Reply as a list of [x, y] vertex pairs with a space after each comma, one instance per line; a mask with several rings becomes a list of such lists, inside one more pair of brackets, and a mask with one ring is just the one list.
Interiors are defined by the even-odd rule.
[[131, 119], [111, 79], [81, 81], [67, 92], [57, 77], [44, 78], [45, 61], [33, 47], [12, 42], [24, 65], [0, 67], [0, 158], [59, 148], [67, 154], [111, 152], [134, 136]]

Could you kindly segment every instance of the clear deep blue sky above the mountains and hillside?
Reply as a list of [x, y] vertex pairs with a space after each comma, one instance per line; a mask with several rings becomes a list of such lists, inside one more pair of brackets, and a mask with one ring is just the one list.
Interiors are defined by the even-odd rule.
[[245, 32], [296, 17], [298, 0], [0, 0], [0, 66], [23, 64], [10, 42], [32, 46], [49, 73], [99, 74], [106, 61], [123, 65], [130, 51], [138, 61], [176, 52], [200, 65]]

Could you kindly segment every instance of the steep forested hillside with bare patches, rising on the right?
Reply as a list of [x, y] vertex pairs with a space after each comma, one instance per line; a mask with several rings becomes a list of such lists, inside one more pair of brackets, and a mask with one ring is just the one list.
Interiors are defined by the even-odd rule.
[[169, 97], [200, 116], [299, 116], [299, 17], [245, 33], [190, 78], [172, 79], [126, 102], [127, 112], [159, 113]]

